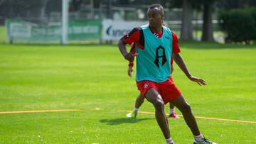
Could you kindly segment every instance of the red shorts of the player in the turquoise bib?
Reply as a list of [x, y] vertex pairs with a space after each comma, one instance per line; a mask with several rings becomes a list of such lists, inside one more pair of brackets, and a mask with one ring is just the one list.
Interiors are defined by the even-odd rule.
[[156, 91], [161, 95], [164, 104], [176, 99], [178, 96], [181, 96], [181, 91], [174, 84], [174, 79], [172, 79], [172, 77], [169, 77], [169, 79], [164, 82], [152, 82], [149, 80], [143, 80], [137, 82], [137, 87], [141, 94], [144, 96], [146, 91], [150, 88], [156, 89]]

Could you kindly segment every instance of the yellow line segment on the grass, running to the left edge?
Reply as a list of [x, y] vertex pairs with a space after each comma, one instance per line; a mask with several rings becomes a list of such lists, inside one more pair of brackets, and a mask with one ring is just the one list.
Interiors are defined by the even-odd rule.
[[0, 111], [0, 114], [9, 114], [9, 113], [45, 113], [45, 112], [60, 112], [60, 111], [80, 111], [80, 109], [52, 109], [52, 110], [34, 110], [34, 111]]

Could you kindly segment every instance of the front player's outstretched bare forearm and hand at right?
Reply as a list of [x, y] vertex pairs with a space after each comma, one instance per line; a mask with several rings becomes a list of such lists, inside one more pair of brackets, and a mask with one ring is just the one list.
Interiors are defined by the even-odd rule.
[[184, 74], [186, 74], [186, 77], [188, 77], [188, 79], [190, 79], [193, 82], [198, 83], [200, 86], [201, 85], [206, 85], [206, 81], [199, 78], [199, 77], [194, 77], [189, 71], [188, 68], [186, 67], [185, 62], [183, 61], [183, 58], [181, 57], [181, 55], [179, 53], [173, 53], [172, 56], [174, 57], [174, 61], [176, 62], [176, 64], [178, 65], [178, 67], [181, 68], [181, 70], [184, 72]]

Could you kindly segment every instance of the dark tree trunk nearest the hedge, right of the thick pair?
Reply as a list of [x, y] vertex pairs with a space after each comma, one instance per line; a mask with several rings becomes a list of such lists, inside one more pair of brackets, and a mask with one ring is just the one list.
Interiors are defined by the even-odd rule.
[[213, 38], [213, 23], [212, 23], [213, 2], [203, 4], [203, 31], [202, 41], [212, 42]]

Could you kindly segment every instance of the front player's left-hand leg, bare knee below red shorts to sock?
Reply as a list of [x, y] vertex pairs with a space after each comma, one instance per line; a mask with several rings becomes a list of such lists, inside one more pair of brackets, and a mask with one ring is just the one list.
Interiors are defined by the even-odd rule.
[[164, 113], [164, 101], [161, 99], [159, 92], [156, 89], [149, 89], [146, 91], [146, 99], [154, 105], [156, 121], [161, 128], [167, 143], [173, 143], [171, 140], [171, 134], [169, 131], [169, 123]]

